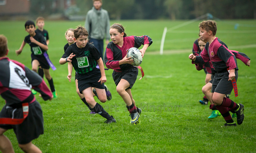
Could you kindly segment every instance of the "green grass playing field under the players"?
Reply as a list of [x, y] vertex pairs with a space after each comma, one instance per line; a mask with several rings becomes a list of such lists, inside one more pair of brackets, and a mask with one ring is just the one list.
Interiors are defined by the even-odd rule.
[[[130, 35], [149, 35], [153, 44], [147, 49], [141, 64], [145, 76], [133, 86], [133, 98], [142, 108], [141, 124], [130, 125], [130, 116], [122, 98], [116, 92], [112, 70], [105, 71], [106, 84], [112, 92], [112, 100], [100, 103], [116, 118], [116, 124], [104, 124], [100, 115], [91, 115], [76, 94], [74, 73], [71, 83], [67, 76], [67, 64], [59, 59], [66, 44], [64, 33], [68, 28], [84, 25], [84, 21], [46, 21], [50, 35], [48, 54], [57, 70], [53, 77], [58, 99], [43, 101], [36, 95], [44, 114], [44, 134], [33, 143], [44, 153], [82, 152], [255, 152], [256, 146], [256, 20], [217, 21], [217, 37], [229, 49], [247, 54], [251, 67], [238, 60], [238, 97], [231, 99], [245, 106], [243, 124], [222, 128], [222, 116], [208, 120], [208, 106], [199, 104], [203, 94], [205, 73], [197, 71], [188, 55], [199, 32], [198, 22], [168, 31], [164, 54], [159, 55], [163, 29], [172, 28], [186, 21], [170, 20], [121, 20], [119, 22]], [[31, 68], [30, 47], [27, 44], [21, 55], [16, 56], [27, 32], [25, 21], [0, 21], [0, 34], [8, 38], [9, 58]], [[238, 29], [234, 25], [238, 23]], [[140, 75], [138, 77], [141, 77]], [[44, 79], [46, 80], [46, 79]], [[47, 82], [47, 81], [46, 81]], [[47, 82], [48, 83], [48, 82]], [[0, 98], [0, 108], [5, 102]], [[83, 107], [81, 107], [83, 106]], [[234, 119], [236, 122], [236, 118]], [[16, 152], [22, 152], [13, 130], [5, 135]]]

